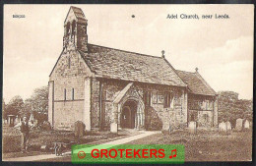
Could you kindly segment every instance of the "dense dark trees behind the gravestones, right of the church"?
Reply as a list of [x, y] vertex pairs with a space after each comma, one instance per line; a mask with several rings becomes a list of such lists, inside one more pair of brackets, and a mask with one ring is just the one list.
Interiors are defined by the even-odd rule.
[[232, 126], [238, 118], [252, 121], [252, 100], [238, 99], [238, 93], [221, 91], [218, 96], [219, 123], [229, 121]]

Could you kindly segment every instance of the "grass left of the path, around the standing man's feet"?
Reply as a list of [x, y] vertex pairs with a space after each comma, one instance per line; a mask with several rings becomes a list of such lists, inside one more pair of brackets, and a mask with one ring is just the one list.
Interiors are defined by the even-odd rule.
[[[3, 127], [3, 158], [23, 157], [30, 155], [38, 155], [52, 153], [53, 151], [43, 151], [41, 145], [53, 147], [53, 142], [61, 141], [74, 144], [90, 143], [96, 140], [107, 140], [109, 138], [118, 138], [122, 135], [111, 134], [110, 132], [90, 132], [86, 133], [83, 138], [75, 138], [74, 132], [71, 131], [41, 131], [32, 130], [29, 138], [28, 153], [21, 153], [21, 133], [18, 129]], [[69, 146], [66, 150], [71, 150]]]

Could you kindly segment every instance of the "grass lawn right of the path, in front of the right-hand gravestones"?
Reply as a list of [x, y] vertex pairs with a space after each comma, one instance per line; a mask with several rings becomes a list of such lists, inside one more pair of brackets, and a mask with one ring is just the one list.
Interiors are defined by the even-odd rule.
[[128, 144], [184, 144], [185, 161], [252, 160], [252, 131], [232, 132], [228, 136], [210, 131], [199, 131], [197, 135], [179, 131], [170, 135], [156, 134]]

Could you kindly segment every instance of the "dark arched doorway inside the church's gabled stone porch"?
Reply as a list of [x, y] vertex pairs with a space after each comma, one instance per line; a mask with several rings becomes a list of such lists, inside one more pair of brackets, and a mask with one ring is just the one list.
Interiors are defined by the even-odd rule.
[[121, 109], [120, 125], [121, 128], [134, 129], [135, 118], [137, 115], [138, 102], [135, 100], [127, 100]]

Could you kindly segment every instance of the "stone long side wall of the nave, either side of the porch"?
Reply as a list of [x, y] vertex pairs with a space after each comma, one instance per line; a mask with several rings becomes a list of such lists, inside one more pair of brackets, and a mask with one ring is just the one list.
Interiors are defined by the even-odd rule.
[[[102, 126], [104, 129], [110, 127], [110, 116], [112, 102], [118, 93], [128, 84], [120, 81], [101, 81], [102, 84]], [[98, 87], [99, 88], [99, 87]], [[173, 129], [185, 127], [187, 125], [187, 96], [181, 87], [161, 86], [148, 83], [135, 83], [134, 87], [143, 97], [144, 91], [152, 92], [151, 106], [145, 106], [145, 128], [146, 130], [168, 129], [169, 125]], [[163, 108], [162, 95], [164, 91], [171, 92], [170, 108]], [[157, 97], [155, 101], [154, 98]], [[96, 100], [98, 101], [98, 100]], [[94, 120], [93, 120], [94, 121]]]

